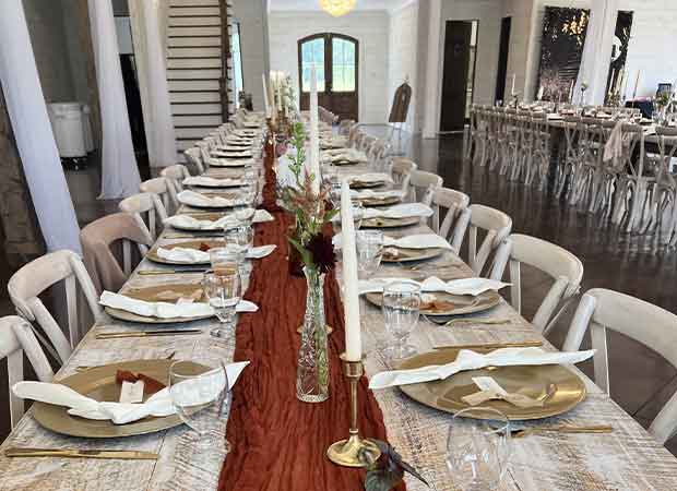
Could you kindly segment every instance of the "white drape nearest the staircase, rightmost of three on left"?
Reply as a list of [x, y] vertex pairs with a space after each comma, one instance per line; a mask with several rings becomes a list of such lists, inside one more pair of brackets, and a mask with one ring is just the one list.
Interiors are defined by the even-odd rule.
[[165, 70], [159, 0], [130, 0], [129, 11], [134, 40], [141, 105], [151, 167], [176, 164], [176, 134]]

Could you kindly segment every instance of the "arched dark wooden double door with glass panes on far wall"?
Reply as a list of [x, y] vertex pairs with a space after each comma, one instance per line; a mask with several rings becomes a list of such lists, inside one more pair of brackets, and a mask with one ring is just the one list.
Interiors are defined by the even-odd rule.
[[310, 69], [318, 75], [318, 103], [341, 118], [357, 121], [359, 41], [334, 33], [313, 34], [298, 41], [300, 106], [308, 109]]

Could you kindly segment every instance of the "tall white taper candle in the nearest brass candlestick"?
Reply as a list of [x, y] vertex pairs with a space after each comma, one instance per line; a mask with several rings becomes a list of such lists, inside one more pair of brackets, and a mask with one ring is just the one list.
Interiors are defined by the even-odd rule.
[[348, 180], [341, 185], [341, 237], [343, 253], [343, 310], [345, 320], [345, 356], [347, 361], [360, 361], [363, 354], [359, 324], [359, 292], [357, 284], [357, 252], [353, 200]]

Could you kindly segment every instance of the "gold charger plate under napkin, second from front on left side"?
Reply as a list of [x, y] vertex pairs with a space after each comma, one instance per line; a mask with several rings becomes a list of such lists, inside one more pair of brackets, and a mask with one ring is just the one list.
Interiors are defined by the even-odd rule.
[[[193, 298], [194, 301], [205, 301], [204, 290], [202, 289], [202, 285], [200, 285], [199, 283], [127, 288], [121, 291], [121, 295], [146, 302], [176, 303], [179, 298]], [[143, 322], [144, 324], [177, 324], [182, 322], [202, 321], [204, 319], [212, 318], [212, 315], [199, 315], [195, 318], [159, 319], [146, 318], [132, 312], [128, 312], [127, 310], [114, 309], [111, 307], [106, 307], [105, 310], [108, 315], [119, 321]]]

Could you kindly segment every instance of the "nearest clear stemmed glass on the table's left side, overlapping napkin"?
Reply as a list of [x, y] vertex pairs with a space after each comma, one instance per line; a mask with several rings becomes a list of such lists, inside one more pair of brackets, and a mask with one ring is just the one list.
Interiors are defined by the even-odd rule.
[[197, 450], [227, 453], [228, 372], [222, 359], [175, 361], [169, 367], [169, 397], [177, 415], [191, 430]]

